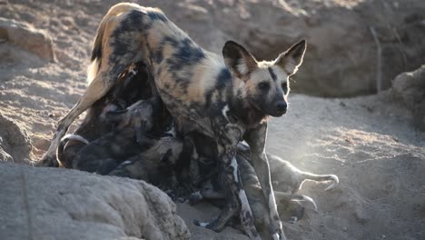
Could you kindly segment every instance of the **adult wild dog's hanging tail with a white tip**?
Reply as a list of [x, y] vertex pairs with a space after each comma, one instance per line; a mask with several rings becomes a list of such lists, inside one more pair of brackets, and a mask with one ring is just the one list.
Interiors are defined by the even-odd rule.
[[97, 72], [100, 69], [100, 66], [102, 65], [102, 55], [103, 55], [102, 42], [104, 41], [104, 29], [106, 27], [106, 24], [112, 17], [123, 14], [124, 12], [133, 8], [134, 6], [137, 6], [137, 5], [134, 5], [131, 3], [117, 4], [111, 7], [108, 13], [104, 15], [104, 19], [102, 19], [102, 22], [97, 28], [97, 34], [94, 38], [92, 56], [90, 57], [90, 65], [87, 69], [87, 84], [88, 85], [90, 85], [90, 83], [93, 81], [94, 77], [97, 75]]

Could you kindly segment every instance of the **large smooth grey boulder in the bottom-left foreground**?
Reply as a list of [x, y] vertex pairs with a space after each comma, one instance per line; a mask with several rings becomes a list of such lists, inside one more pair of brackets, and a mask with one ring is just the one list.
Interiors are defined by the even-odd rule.
[[143, 181], [0, 164], [1, 239], [189, 239], [176, 206]]

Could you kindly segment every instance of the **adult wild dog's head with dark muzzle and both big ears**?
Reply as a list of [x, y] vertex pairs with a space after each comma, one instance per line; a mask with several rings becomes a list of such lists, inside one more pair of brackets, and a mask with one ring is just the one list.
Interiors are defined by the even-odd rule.
[[242, 97], [264, 115], [281, 116], [288, 108], [288, 78], [298, 71], [305, 49], [301, 40], [274, 61], [257, 62], [242, 45], [228, 41], [222, 55], [232, 76], [242, 80]]

